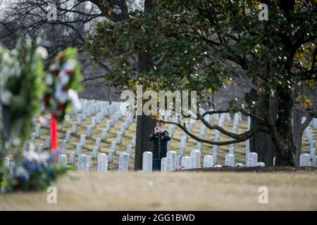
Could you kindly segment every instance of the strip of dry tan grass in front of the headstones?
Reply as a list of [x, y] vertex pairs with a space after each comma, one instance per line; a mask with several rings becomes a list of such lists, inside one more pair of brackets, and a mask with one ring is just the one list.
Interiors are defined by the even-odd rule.
[[[317, 172], [72, 172], [49, 193], [0, 195], [0, 210], [317, 210]], [[268, 188], [268, 203], [258, 201]]]

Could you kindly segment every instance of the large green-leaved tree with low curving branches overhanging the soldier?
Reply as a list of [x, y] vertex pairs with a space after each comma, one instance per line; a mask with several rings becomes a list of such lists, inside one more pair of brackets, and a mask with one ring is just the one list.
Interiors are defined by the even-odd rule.
[[[296, 108], [307, 117], [302, 128], [316, 116], [316, 4], [270, 1], [266, 3], [268, 20], [259, 20], [259, 4], [159, 1], [155, 11], [135, 11], [126, 20], [99, 23], [85, 49], [94, 60], [114, 60], [113, 71], [105, 76], [114, 86], [197, 90], [200, 103], [240, 77], [256, 96], [247, 102], [233, 101], [223, 112], [240, 111], [258, 120], [258, 127], [246, 134], [231, 134], [206, 123], [201, 115], [197, 118], [210, 129], [232, 137], [232, 142], [264, 131], [278, 148], [277, 164], [294, 165], [292, 110]], [[149, 53], [153, 63], [149, 70], [139, 71], [136, 66], [142, 52]], [[271, 115], [273, 98], [278, 101], [276, 122]], [[266, 105], [265, 115], [252, 113], [260, 103]], [[178, 126], [190, 134], [185, 126]]]

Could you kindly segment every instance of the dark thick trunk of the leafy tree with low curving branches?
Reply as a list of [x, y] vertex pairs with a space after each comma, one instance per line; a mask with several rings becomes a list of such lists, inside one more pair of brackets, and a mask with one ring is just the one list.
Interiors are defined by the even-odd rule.
[[[297, 147], [294, 143], [293, 105], [294, 98], [291, 89], [278, 89], [278, 121], [275, 138], [275, 165], [296, 166]], [[278, 138], [278, 139], [276, 139]]]

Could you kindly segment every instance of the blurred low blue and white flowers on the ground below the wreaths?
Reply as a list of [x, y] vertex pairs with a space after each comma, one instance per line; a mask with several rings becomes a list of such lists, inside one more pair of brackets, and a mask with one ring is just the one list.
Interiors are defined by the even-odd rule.
[[[18, 163], [20, 160], [22, 162]], [[27, 151], [23, 153], [22, 159], [16, 159], [10, 169], [5, 170], [1, 192], [44, 191], [68, 169], [58, 167], [54, 163], [54, 155]]]

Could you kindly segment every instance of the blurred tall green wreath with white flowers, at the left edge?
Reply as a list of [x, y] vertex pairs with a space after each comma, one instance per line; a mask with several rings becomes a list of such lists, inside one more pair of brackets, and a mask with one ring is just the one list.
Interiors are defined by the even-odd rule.
[[1, 116], [8, 123], [3, 129], [10, 127], [3, 137], [10, 137], [13, 146], [30, 137], [32, 117], [40, 112], [46, 57], [46, 49], [32, 45], [30, 39], [18, 39], [11, 51], [0, 45], [0, 106], [3, 112], [6, 109]]

